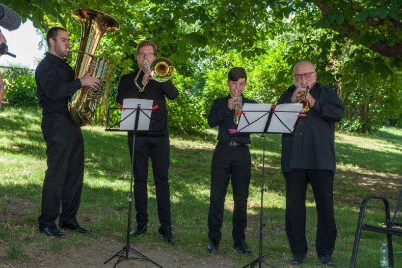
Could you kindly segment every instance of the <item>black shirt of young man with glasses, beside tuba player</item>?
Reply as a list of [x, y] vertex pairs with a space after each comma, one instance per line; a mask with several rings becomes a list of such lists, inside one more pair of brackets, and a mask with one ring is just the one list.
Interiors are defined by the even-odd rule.
[[[153, 79], [149, 79], [147, 86], [145, 87], [143, 92], [140, 92], [134, 83], [134, 79], [137, 76], [137, 73], [140, 69], [137, 69], [135, 72], [124, 74], [119, 83], [118, 93], [116, 97], [116, 101], [123, 105], [123, 100], [126, 98], [136, 98], [136, 99], [151, 99], [153, 100], [153, 106], [158, 105], [158, 109], [152, 112], [151, 119], [158, 125], [161, 124], [159, 119], [154, 119], [158, 116], [158, 111], [166, 110], [166, 99], [175, 99], [179, 95], [176, 87], [169, 80], [166, 82], [157, 82]], [[144, 77], [144, 72], [141, 71], [137, 83], [142, 88], [143, 85], [141, 83], [142, 78]], [[166, 117], [164, 117], [166, 118]], [[162, 118], [160, 118], [162, 119]], [[164, 121], [165, 129], [167, 128], [167, 122]], [[163, 123], [162, 123], [163, 124]], [[150, 130], [158, 130], [159, 127], [154, 126], [153, 123], [150, 124]], [[167, 131], [167, 129], [166, 129]], [[164, 135], [163, 132], [148, 132], [148, 133], [139, 133], [138, 136], [161, 136]]]

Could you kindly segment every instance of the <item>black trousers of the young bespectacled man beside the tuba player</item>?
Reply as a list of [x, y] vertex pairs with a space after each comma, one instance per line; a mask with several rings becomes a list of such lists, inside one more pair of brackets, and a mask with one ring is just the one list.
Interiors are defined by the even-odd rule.
[[[148, 160], [151, 158], [153, 180], [155, 182], [156, 203], [159, 222], [162, 226], [171, 226], [170, 186], [169, 186], [169, 135], [136, 136], [134, 146], [134, 201], [137, 223], [148, 223]], [[133, 136], [128, 132], [128, 149], [132, 159]]]

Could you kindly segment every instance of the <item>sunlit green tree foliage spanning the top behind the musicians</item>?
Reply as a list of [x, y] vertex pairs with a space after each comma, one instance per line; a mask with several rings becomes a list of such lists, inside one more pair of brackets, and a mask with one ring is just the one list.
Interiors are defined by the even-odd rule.
[[[184, 97], [168, 105], [176, 111], [190, 113], [178, 117], [186, 117], [186, 122], [193, 122], [193, 116], [199, 118], [198, 113], [205, 116], [211, 101], [227, 94], [228, 68], [246, 67], [248, 97], [259, 102], [275, 102], [292, 84], [291, 67], [299, 60], [315, 64], [318, 81], [333, 87], [346, 105], [352, 105], [346, 109], [368, 111], [368, 116], [346, 113], [345, 128], [376, 130], [382, 121], [394, 124], [401, 117], [400, 112], [395, 112], [400, 111], [400, 106], [395, 104], [398, 97], [371, 100], [370, 109], [356, 109], [356, 101], [352, 99], [360, 98], [362, 103], [365, 97], [362, 94], [351, 96], [351, 100], [347, 98], [358, 89], [378, 92], [375, 87], [365, 85], [366, 79], [373, 85], [392, 80], [388, 88], [400, 88], [396, 79], [402, 65], [400, 1], [3, 2], [16, 10], [23, 21], [31, 19], [42, 33], [56, 24], [66, 26], [73, 48], [77, 48], [81, 30], [70, 15], [72, 10], [85, 7], [115, 17], [120, 30], [106, 33], [98, 47], [113, 62], [111, 69], [119, 70], [109, 80], [110, 88], [106, 89], [112, 92], [108, 92], [109, 96], [113, 96], [113, 83], [118, 83], [121, 73], [136, 67], [136, 45], [144, 39], [156, 42], [158, 57], [169, 58], [175, 65], [180, 77], [175, 83]], [[374, 79], [369, 77], [374, 73]], [[374, 93], [370, 98], [381, 96]], [[388, 104], [389, 109], [379, 103]], [[114, 99], [105, 100], [99, 106], [95, 122], [104, 123], [105, 111], [115, 105]], [[195, 106], [201, 111], [194, 114], [189, 107]], [[385, 111], [372, 110], [383, 108]], [[169, 118], [172, 116], [174, 120], [173, 111], [171, 114]], [[194, 131], [193, 123], [179, 125], [182, 132]], [[360, 126], [350, 128], [351, 125]]]

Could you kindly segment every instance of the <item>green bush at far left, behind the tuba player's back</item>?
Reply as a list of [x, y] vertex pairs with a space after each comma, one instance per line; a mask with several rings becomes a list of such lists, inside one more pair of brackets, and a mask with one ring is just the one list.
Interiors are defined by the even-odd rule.
[[4, 79], [4, 98], [6, 101], [21, 105], [38, 104], [35, 77], [32, 70], [20, 68], [6, 69]]

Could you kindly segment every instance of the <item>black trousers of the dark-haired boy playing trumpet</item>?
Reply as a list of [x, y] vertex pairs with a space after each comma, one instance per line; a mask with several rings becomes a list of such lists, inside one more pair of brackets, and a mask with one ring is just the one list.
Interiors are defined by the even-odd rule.
[[249, 147], [230, 147], [218, 143], [213, 152], [211, 163], [208, 212], [209, 240], [221, 240], [224, 204], [229, 180], [232, 183], [234, 200], [232, 237], [235, 242], [245, 239], [250, 178], [251, 156]]

